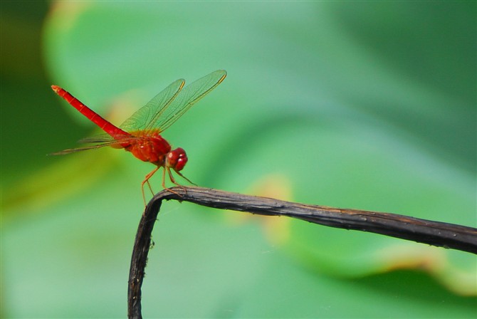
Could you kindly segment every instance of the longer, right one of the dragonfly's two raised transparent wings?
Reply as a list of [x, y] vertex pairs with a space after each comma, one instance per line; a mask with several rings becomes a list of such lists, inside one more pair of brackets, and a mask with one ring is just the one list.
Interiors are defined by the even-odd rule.
[[204, 78], [199, 78], [199, 80], [187, 85], [169, 105], [165, 105], [164, 108], [157, 113], [157, 116], [154, 116], [154, 118], [147, 123], [146, 130], [159, 129], [161, 132], [166, 130], [167, 127], [171, 126], [179, 117], [184, 115], [192, 105], [201, 98], [204, 98], [211, 90], [214, 90], [214, 88], [224, 80], [226, 75], [225, 70], [216, 70], [204, 76]]

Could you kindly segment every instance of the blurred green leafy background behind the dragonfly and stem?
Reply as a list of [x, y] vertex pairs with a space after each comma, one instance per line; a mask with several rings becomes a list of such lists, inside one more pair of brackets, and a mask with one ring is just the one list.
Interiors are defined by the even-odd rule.
[[[1, 313], [118, 318], [152, 165], [119, 124], [177, 78], [229, 75], [164, 133], [196, 184], [477, 226], [476, 2], [1, 2]], [[160, 177], [152, 184], [159, 190]], [[146, 318], [471, 318], [477, 259], [166, 203]]]

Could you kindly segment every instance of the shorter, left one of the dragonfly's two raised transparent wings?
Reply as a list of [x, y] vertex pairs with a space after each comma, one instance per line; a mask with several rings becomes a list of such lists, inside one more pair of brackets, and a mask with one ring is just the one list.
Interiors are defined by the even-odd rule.
[[122, 130], [132, 132], [146, 130], [148, 123], [156, 122], [164, 110], [168, 108], [177, 94], [184, 87], [185, 80], [179, 79], [154, 96], [145, 106], [137, 110], [131, 117], [120, 125]]

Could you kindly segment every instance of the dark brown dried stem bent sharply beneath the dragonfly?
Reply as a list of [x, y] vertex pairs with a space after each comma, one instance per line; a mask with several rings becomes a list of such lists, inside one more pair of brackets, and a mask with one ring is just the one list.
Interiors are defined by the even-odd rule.
[[217, 189], [174, 187], [170, 191], [164, 189], [156, 194], [142, 214], [131, 258], [127, 290], [127, 315], [129, 318], [142, 318], [141, 286], [145, 274], [147, 253], [150, 249], [152, 229], [164, 199], [192, 202], [216, 209], [246, 211], [251, 214], [288, 216], [314, 224], [367, 231], [422, 244], [477, 253], [477, 229], [472, 227], [376, 211], [298, 204]]

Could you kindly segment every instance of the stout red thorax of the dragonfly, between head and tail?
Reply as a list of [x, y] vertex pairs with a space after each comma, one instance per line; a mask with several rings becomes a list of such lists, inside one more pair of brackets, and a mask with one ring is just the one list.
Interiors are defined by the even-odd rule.
[[142, 131], [130, 132], [130, 134], [139, 138], [125, 147], [125, 150], [144, 162], [164, 166], [165, 157], [171, 151], [171, 145], [167, 140], [164, 140], [158, 132], [146, 132], [147, 136]]

